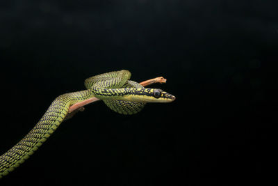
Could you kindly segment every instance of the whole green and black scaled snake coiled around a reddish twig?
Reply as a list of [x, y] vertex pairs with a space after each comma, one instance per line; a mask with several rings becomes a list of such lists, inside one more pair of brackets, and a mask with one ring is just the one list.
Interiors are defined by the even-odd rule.
[[99, 98], [113, 111], [120, 114], [136, 114], [147, 102], [172, 102], [174, 95], [157, 88], [144, 86], [129, 80], [128, 70], [107, 72], [85, 79], [84, 91], [59, 95], [44, 113], [40, 121], [13, 148], [0, 156], [0, 178], [22, 164], [46, 141], [66, 118], [72, 104]]

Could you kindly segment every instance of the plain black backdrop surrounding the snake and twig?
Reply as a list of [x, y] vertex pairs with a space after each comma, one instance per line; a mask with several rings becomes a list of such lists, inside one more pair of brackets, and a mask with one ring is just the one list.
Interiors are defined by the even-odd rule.
[[113, 70], [177, 100], [62, 123], [0, 185], [249, 185], [274, 179], [277, 1], [1, 1], [0, 154], [56, 96]]

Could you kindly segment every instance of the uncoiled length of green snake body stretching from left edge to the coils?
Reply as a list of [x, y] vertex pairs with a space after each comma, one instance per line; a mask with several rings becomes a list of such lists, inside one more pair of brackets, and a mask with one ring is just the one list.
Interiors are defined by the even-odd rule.
[[92, 93], [89, 90], [58, 96], [35, 127], [13, 148], [10, 148], [10, 150], [0, 156], [0, 178], [13, 171], [17, 166], [25, 162], [35, 150], [38, 150], [62, 123], [71, 104], [91, 96]]

